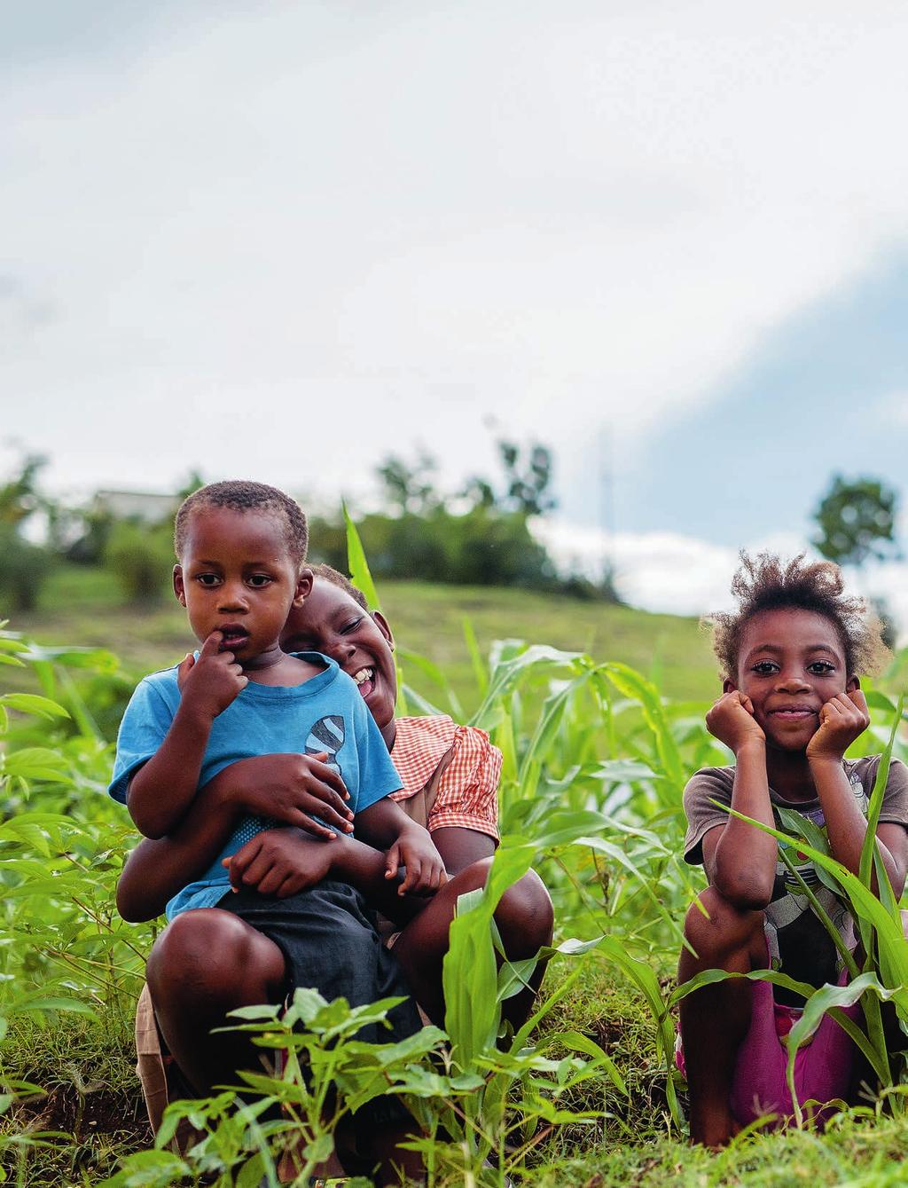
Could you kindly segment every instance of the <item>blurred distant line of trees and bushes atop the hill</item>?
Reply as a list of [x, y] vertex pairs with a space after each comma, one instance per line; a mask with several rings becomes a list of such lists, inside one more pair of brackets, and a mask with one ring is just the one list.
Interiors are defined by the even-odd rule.
[[[425, 451], [412, 461], [389, 455], [376, 468], [379, 510], [357, 516], [369, 563], [377, 577], [418, 579], [456, 584], [514, 586], [560, 590], [578, 598], [618, 601], [608, 573], [601, 582], [559, 576], [531, 532], [532, 517], [550, 513], [552, 451], [540, 443], [497, 442], [501, 474], [474, 476], [459, 489], [443, 491], [438, 463]], [[192, 474], [166, 508], [150, 523], [118, 514], [95, 500], [65, 507], [42, 494], [39, 473], [46, 459], [31, 455], [0, 488], [0, 602], [6, 611], [28, 609], [55, 561], [109, 569], [131, 601], [157, 601], [170, 589], [173, 564], [172, 511], [202, 486]], [[23, 535], [26, 522], [43, 514], [46, 543]], [[338, 569], [347, 563], [343, 508], [310, 516], [311, 557]]]

